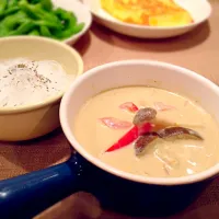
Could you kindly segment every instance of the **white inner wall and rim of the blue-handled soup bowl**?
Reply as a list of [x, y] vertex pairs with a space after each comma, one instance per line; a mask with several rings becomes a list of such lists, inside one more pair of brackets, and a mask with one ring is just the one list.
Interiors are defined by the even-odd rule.
[[[208, 79], [181, 67], [151, 60], [112, 62], [89, 70], [77, 79], [65, 94], [60, 106], [60, 122], [71, 146], [94, 165], [117, 176], [135, 182], [177, 185], [209, 178], [219, 173], [219, 164], [198, 174], [183, 177], [149, 177], [130, 174], [112, 168], [81, 146], [73, 136], [71, 126], [82, 104], [93, 95], [117, 87], [150, 85], [196, 97], [206, 111], [219, 123], [219, 88]], [[219, 147], [219, 146], [218, 146]]]

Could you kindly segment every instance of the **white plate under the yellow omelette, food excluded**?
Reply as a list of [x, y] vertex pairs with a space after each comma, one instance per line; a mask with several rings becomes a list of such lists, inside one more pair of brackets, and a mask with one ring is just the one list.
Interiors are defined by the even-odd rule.
[[117, 33], [139, 38], [166, 38], [182, 35], [194, 30], [200, 23], [208, 20], [211, 14], [211, 5], [207, 0], [174, 0], [192, 14], [194, 23], [175, 27], [153, 27], [128, 24], [114, 19], [104, 10], [102, 10], [100, 0], [82, 1], [84, 4], [89, 5], [95, 21], [100, 24]]

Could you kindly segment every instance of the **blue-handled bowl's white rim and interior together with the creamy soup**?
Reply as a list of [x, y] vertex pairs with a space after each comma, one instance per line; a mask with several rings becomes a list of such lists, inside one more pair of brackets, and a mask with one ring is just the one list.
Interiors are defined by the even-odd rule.
[[89, 70], [65, 94], [60, 122], [97, 168], [134, 182], [189, 184], [219, 172], [219, 89], [188, 69], [126, 60]]

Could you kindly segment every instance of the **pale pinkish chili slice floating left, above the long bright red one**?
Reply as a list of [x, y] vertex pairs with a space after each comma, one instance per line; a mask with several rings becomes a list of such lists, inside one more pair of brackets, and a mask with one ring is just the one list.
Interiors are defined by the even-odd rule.
[[132, 124], [129, 122], [120, 120], [118, 118], [113, 118], [113, 117], [104, 117], [104, 118], [100, 118], [100, 120], [105, 126], [113, 129], [124, 129], [124, 128], [130, 128], [132, 126]]

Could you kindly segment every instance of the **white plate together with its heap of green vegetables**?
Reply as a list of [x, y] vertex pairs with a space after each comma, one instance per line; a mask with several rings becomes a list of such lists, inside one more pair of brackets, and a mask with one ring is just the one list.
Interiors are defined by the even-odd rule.
[[72, 45], [91, 23], [78, 0], [0, 0], [0, 37], [34, 35]]

